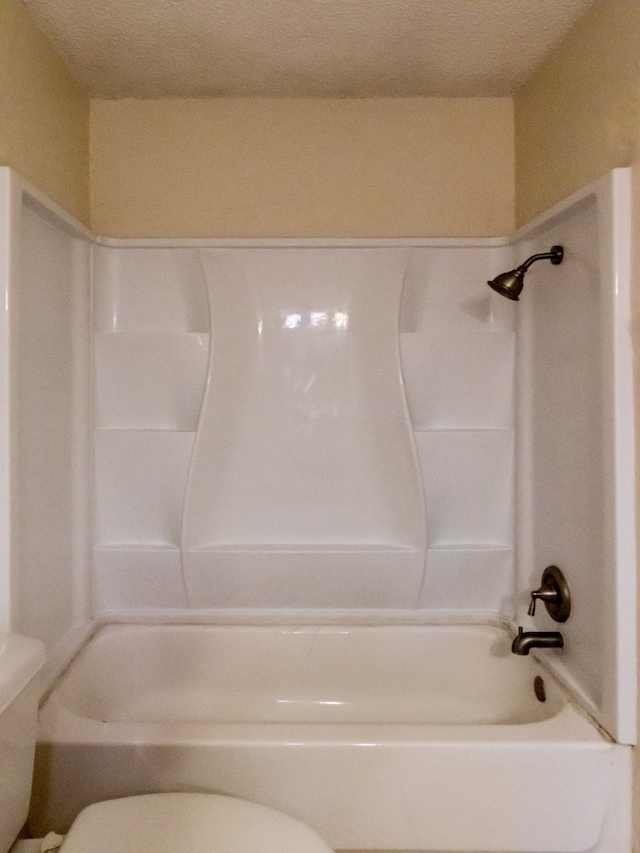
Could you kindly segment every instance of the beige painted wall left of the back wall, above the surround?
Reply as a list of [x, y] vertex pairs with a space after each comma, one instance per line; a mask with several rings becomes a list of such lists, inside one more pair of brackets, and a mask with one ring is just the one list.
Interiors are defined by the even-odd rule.
[[89, 100], [20, 0], [0, 0], [0, 165], [89, 223]]

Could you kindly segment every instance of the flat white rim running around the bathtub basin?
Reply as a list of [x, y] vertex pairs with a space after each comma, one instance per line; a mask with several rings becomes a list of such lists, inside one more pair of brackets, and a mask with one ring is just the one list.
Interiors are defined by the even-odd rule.
[[[273, 615], [273, 614], [270, 614]], [[409, 621], [380, 621], [371, 620], [368, 623], [347, 623], [336, 620], [320, 623], [313, 621], [288, 621], [287, 624], [269, 618], [266, 621], [246, 623], [240, 621], [214, 620], [207, 622], [167, 622], [161, 620], [145, 620], [144, 622], [112, 622], [111, 620], [94, 623], [93, 629], [84, 641], [76, 648], [56, 677], [47, 685], [40, 701], [38, 717], [38, 740], [41, 742], [78, 743], [78, 744], [122, 744], [130, 743], [131, 737], [149, 745], [216, 743], [237, 745], [289, 743], [296, 744], [416, 744], [416, 743], [450, 743], [483, 744], [518, 743], [535, 744], [541, 742], [567, 743], [615, 743], [614, 738], [603, 729], [590, 713], [589, 708], [580, 701], [580, 696], [571, 689], [571, 685], [558, 677], [555, 667], [548, 665], [542, 656], [532, 655], [535, 662], [544, 671], [545, 676], [553, 683], [559, 693], [560, 708], [549, 717], [528, 722], [499, 722], [499, 723], [295, 723], [295, 722], [102, 722], [95, 718], [84, 717], [65, 705], [63, 698], [57, 692], [62, 686], [67, 674], [89, 644], [102, 632], [112, 633], [119, 628], [148, 628], [176, 627], [180, 629], [198, 627], [231, 627], [231, 628], [340, 628], [340, 627], [464, 627], [490, 628], [514, 636], [510, 625], [504, 622], [483, 622], [475, 620], [465, 622], [438, 620], [421, 623]]]

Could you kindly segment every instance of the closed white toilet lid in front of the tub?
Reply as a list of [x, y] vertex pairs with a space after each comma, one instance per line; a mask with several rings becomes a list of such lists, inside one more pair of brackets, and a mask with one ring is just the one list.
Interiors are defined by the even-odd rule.
[[217, 794], [146, 794], [84, 809], [60, 853], [332, 853], [304, 823]]

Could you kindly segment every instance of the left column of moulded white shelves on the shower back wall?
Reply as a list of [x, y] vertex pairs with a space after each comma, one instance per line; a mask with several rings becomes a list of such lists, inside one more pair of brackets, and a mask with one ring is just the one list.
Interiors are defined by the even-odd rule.
[[94, 249], [98, 612], [186, 610], [184, 490], [209, 360], [200, 253]]

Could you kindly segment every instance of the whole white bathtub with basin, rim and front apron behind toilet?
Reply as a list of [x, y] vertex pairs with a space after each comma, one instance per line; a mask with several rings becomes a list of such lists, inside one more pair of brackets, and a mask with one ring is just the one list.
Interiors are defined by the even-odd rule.
[[626, 853], [628, 763], [500, 628], [109, 626], [42, 708], [30, 822], [215, 791], [335, 849]]

